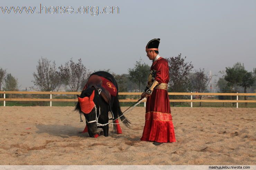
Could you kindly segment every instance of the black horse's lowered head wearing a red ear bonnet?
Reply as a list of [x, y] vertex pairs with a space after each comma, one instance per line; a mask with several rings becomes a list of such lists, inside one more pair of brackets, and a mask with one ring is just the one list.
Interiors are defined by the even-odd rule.
[[88, 124], [89, 130], [95, 134], [97, 131], [96, 123], [96, 109], [95, 103], [99, 97], [97, 91], [94, 88], [88, 88], [82, 91], [81, 95], [77, 95], [78, 102], [76, 104], [75, 110], [79, 113], [83, 113]]

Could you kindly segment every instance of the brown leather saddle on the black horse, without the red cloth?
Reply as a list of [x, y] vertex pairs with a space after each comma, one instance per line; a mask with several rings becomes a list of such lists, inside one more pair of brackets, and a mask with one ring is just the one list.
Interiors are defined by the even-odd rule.
[[108, 103], [111, 103], [111, 94], [106, 88], [102, 86], [102, 79], [98, 75], [92, 75], [87, 82], [87, 88], [95, 87], [97, 90], [101, 89], [100, 96]]

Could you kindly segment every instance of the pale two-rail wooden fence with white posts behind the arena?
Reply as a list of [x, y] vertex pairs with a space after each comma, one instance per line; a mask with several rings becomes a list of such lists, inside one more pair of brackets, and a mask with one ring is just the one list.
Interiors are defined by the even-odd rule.
[[[49, 101], [50, 106], [52, 106], [52, 101], [60, 102], [77, 102], [77, 99], [52, 99], [52, 94], [81, 94], [81, 92], [56, 92], [56, 91], [0, 91], [0, 94], [3, 94], [3, 98], [0, 98], [0, 101]], [[6, 94], [49, 94], [48, 99], [38, 99], [38, 98], [6, 98]], [[119, 92], [119, 95], [136, 95], [140, 96], [141, 92]], [[256, 100], [238, 100], [238, 96], [256, 96], [256, 93], [177, 93], [170, 92], [168, 95], [182, 95], [182, 96], [191, 96], [191, 99], [187, 100], [170, 100], [170, 102], [191, 102], [191, 107], [193, 107], [193, 102], [222, 102], [222, 103], [236, 103], [238, 108], [238, 103], [256, 103]], [[193, 100], [193, 96], [237, 96], [237, 100]], [[136, 102], [137, 99], [120, 99], [120, 102]], [[143, 100], [146, 102], [146, 100]], [[145, 104], [144, 104], [145, 105]]]

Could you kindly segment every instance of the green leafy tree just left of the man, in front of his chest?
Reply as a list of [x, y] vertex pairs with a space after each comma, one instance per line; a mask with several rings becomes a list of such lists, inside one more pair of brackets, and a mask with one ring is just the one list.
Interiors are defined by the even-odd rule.
[[146, 63], [142, 63], [141, 59], [139, 61], [136, 61], [134, 68], [128, 69], [129, 79], [138, 84], [138, 91], [141, 90], [141, 85], [146, 86], [149, 71], [150, 66], [148, 66]]

